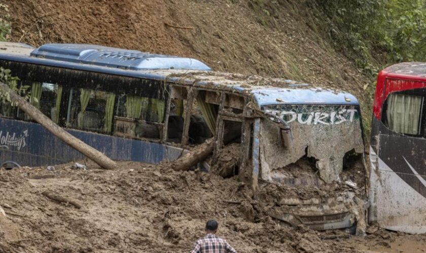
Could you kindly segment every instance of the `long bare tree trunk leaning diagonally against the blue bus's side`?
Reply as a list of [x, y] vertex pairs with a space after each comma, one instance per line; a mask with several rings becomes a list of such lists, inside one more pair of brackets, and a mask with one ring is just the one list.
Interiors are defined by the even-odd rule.
[[53, 122], [49, 117], [44, 115], [41, 111], [39, 111], [37, 108], [32, 106], [30, 103], [28, 103], [24, 98], [19, 96], [15, 91], [9, 88], [8, 85], [6, 85], [3, 82], [0, 82], [0, 90], [5, 93], [5, 95], [9, 95], [11, 102], [13, 104], [16, 104], [19, 109], [24, 111], [26, 114], [28, 114], [31, 118], [33, 118], [35, 121], [40, 123], [44, 126], [49, 132], [51, 132], [54, 136], [68, 144], [69, 146], [73, 147], [80, 153], [87, 156], [89, 159], [93, 160], [99, 166], [105, 169], [113, 169], [116, 168], [117, 163], [110, 158], [108, 158], [103, 153], [99, 152], [98, 150], [92, 148], [91, 146], [84, 143], [82, 140], [74, 137], [73, 135], [69, 134], [65, 130], [63, 130], [60, 126], [58, 126], [55, 122]]

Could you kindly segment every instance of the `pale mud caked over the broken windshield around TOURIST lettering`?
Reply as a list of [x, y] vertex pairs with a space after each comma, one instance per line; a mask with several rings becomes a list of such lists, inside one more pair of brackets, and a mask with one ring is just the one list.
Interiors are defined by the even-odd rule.
[[[331, 106], [318, 106], [317, 108], [304, 110], [316, 109], [318, 111], [323, 111], [315, 112], [317, 116], [319, 114], [336, 114], [337, 111], [342, 110], [342, 108], [330, 107]], [[267, 111], [268, 110], [270, 111], [270, 109], [267, 109]], [[294, 106], [294, 108], [291, 108], [290, 111], [286, 113], [294, 113], [292, 110], [301, 110], [301, 108]], [[330, 113], [332, 110], [335, 112]], [[273, 173], [276, 168], [294, 163], [302, 156], [306, 155], [316, 159], [313, 167], [317, 168], [322, 180], [326, 183], [340, 181], [340, 173], [343, 170], [343, 158], [345, 154], [351, 150], [353, 150], [353, 153], [358, 154], [364, 152], [359, 116], [352, 119], [352, 115], [350, 121], [340, 116], [341, 121], [338, 123], [329, 121], [317, 123], [313, 120], [314, 113], [311, 112], [310, 114], [306, 114], [306, 111], [304, 113], [299, 113], [298, 116], [294, 113], [293, 121], [289, 122], [292, 135], [292, 147], [288, 149], [283, 148], [276, 138], [276, 136], [279, 136], [280, 131], [278, 126], [272, 121], [262, 121], [261, 138], [266, 140], [261, 142], [261, 155], [264, 157], [262, 161], [262, 178], [264, 180], [272, 181], [271, 173]], [[282, 109], [276, 113], [280, 112], [282, 112]], [[301, 117], [303, 115], [306, 118], [304, 121]], [[309, 116], [306, 117], [307, 115]], [[318, 118], [317, 116], [315, 116], [315, 118]], [[285, 116], [281, 115], [281, 117]]]

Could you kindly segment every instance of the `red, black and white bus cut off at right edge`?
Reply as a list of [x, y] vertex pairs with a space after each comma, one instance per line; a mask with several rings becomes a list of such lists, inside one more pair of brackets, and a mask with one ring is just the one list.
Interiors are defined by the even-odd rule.
[[377, 77], [370, 146], [369, 222], [426, 233], [426, 63]]

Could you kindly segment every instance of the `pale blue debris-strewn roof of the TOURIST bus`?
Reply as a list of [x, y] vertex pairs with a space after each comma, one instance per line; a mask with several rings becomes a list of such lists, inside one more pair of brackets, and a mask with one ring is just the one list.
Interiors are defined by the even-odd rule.
[[8, 47], [24, 47], [26, 51], [0, 51], [0, 60], [225, 89], [252, 96], [259, 106], [359, 105], [358, 100], [346, 92], [311, 88], [306, 83], [286, 79], [214, 72], [204, 63], [191, 58], [81, 44], [46, 44], [34, 49], [24, 44], [9, 43]]

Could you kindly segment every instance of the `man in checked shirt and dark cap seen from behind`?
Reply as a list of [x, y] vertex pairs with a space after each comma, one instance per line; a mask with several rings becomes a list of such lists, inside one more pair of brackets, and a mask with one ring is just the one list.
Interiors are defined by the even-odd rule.
[[216, 231], [218, 231], [218, 222], [209, 220], [205, 224], [206, 236], [195, 242], [190, 253], [237, 253], [228, 242], [216, 236]]

